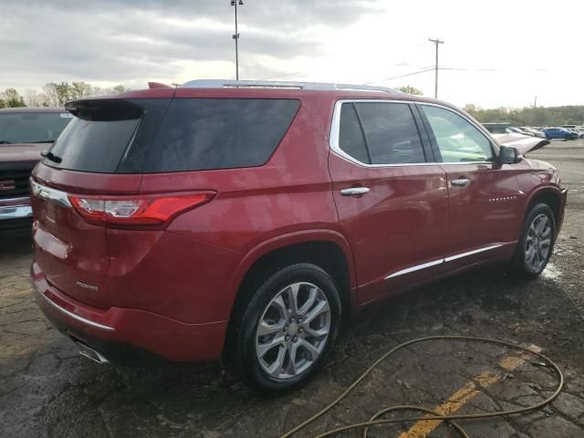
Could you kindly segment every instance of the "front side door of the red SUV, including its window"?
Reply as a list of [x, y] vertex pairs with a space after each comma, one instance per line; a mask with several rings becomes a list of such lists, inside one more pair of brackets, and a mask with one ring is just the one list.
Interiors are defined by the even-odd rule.
[[438, 105], [418, 108], [448, 177], [450, 244], [444, 267], [504, 254], [522, 220], [525, 193], [519, 191], [516, 169], [497, 161], [493, 141], [472, 120]]

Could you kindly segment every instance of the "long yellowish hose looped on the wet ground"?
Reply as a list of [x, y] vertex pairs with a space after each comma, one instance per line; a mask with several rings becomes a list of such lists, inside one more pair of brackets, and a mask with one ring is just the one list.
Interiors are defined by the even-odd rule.
[[[371, 370], [373, 370], [375, 367], [377, 367], [383, 360], [386, 360], [387, 358], [389, 358], [396, 351], [403, 349], [405, 347], [408, 347], [412, 344], [417, 344], [419, 342], [425, 342], [428, 340], [444, 340], [444, 339], [446, 339], [446, 340], [473, 341], [473, 342], [486, 342], [486, 343], [491, 343], [491, 344], [503, 345], [505, 347], [512, 348], [512, 349], [520, 349], [523, 351], [527, 351], [528, 353], [537, 356], [541, 360], [546, 361], [556, 371], [556, 373], [558, 374], [558, 381], [559, 381], [558, 388], [556, 391], [554, 391], [554, 393], [552, 395], [547, 397], [547, 399], [544, 401], [540, 401], [537, 404], [534, 404], [532, 406], [527, 406], [525, 408], [512, 409], [512, 410], [507, 410], [507, 411], [466, 413], [466, 414], [455, 414], [455, 415], [440, 415], [436, 412], [433, 412], [432, 410], [422, 408], [420, 406], [412, 406], [412, 405], [408, 405], [408, 404], [391, 406], [391, 407], [384, 408], [381, 411], [376, 412], [370, 418], [370, 421], [368, 421], [368, 422], [355, 422], [353, 424], [349, 424], [347, 426], [342, 426], [342, 427], [339, 427], [337, 429], [327, 431], [325, 433], [320, 433], [315, 438], [325, 438], [327, 436], [332, 436], [332, 435], [335, 435], [337, 433], [346, 432], [346, 431], [350, 431], [350, 430], [354, 430], [354, 429], [363, 429], [363, 438], [367, 438], [370, 426], [374, 426], [377, 424], [388, 424], [391, 422], [419, 422], [419, 421], [433, 421], [433, 420], [441, 420], [441, 421], [450, 422], [454, 426], [454, 429], [457, 430], [459, 433], [461, 433], [461, 435], [463, 435], [464, 438], [469, 438], [468, 434], [464, 432], [464, 429], [458, 423], [454, 422], [454, 420], [493, 418], [493, 417], [500, 417], [500, 416], [504, 416], [504, 415], [516, 415], [518, 413], [535, 411], [537, 409], [544, 407], [545, 405], [547, 405], [548, 403], [553, 401], [556, 397], [558, 397], [559, 392], [562, 391], [562, 388], [564, 387], [564, 375], [562, 374], [562, 371], [558, 368], [558, 365], [556, 365], [556, 363], [553, 360], [548, 359], [546, 356], [544, 356], [543, 354], [541, 354], [537, 351], [527, 349], [526, 347], [521, 347], [521, 346], [516, 345], [512, 342], [507, 342], [506, 340], [499, 340], [499, 339], [490, 339], [490, 338], [473, 337], [473, 336], [428, 336], [425, 338], [412, 339], [412, 340], [409, 340], [407, 342], [403, 342], [402, 344], [398, 345], [397, 347], [390, 349], [388, 352], [383, 354], [380, 359], [373, 362], [373, 364], [371, 364], [371, 366], [367, 370], [365, 370], [365, 372], [363, 372], [360, 375], [360, 377], [357, 378], [356, 381], [353, 381], [349, 385], [349, 388], [347, 388], [345, 391], [343, 391], [343, 393], [341, 393], [339, 395], [339, 397], [337, 397], [334, 401], [330, 402], [328, 404], [328, 406], [326, 406], [321, 411], [315, 413], [312, 417], [308, 418], [308, 420], [306, 420], [305, 422], [298, 424], [295, 428], [291, 429], [287, 433], [284, 433], [280, 438], [288, 438], [288, 437], [292, 436], [293, 434], [297, 433], [298, 431], [307, 427], [308, 424], [310, 424], [311, 422], [315, 422], [316, 420], [318, 420], [318, 418], [320, 418], [325, 413], [327, 413], [332, 408], [334, 408], [339, 403], [339, 401], [341, 401], [345, 397], [347, 397], [349, 392], [353, 391], [355, 389], [355, 387], [357, 385], [359, 385], [360, 382], [363, 381], [363, 379], [365, 379], [369, 375]], [[422, 417], [418, 416], [418, 417], [380, 419], [380, 417], [382, 415], [384, 415], [385, 413], [398, 411], [398, 410], [415, 410], [415, 411], [421, 411], [421, 412], [428, 412], [428, 413], [430, 413], [430, 415], [424, 415]]]

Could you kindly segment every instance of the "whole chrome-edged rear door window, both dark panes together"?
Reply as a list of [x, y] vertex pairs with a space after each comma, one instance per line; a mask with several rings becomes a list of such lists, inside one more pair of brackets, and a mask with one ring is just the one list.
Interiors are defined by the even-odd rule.
[[407, 103], [344, 103], [340, 114], [339, 148], [366, 164], [426, 161]]

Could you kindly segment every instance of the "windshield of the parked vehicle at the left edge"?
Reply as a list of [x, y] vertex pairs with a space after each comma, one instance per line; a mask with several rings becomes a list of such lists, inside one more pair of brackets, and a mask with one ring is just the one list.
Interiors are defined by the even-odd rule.
[[65, 129], [68, 112], [19, 112], [0, 114], [0, 144], [52, 143]]

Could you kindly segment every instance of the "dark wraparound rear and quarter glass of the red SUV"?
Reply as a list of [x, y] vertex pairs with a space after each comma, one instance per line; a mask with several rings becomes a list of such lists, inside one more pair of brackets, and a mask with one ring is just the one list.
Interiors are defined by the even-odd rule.
[[44, 162], [105, 173], [260, 166], [299, 105], [296, 99], [80, 100]]

